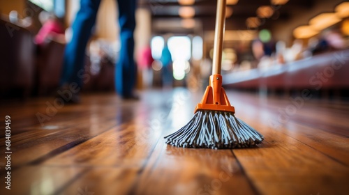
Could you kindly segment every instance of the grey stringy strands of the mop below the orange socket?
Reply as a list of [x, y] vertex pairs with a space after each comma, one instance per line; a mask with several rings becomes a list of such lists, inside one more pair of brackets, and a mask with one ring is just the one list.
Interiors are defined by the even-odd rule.
[[181, 148], [247, 148], [262, 143], [262, 134], [228, 111], [197, 111], [180, 130], [165, 137]]

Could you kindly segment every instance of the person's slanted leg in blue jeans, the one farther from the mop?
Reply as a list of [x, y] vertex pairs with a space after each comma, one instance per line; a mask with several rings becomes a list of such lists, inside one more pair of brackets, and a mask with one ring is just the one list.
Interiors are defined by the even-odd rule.
[[96, 15], [101, 0], [81, 0], [80, 10], [73, 23], [73, 37], [64, 51], [64, 65], [61, 75], [61, 86], [76, 83], [82, 86], [84, 55], [91, 29], [96, 22]]

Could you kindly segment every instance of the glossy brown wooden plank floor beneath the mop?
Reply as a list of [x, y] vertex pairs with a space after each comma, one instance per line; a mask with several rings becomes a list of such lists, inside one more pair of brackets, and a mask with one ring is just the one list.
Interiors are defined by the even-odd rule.
[[13, 153], [8, 190], [3, 122], [0, 194], [349, 193], [348, 102], [228, 97], [235, 116], [265, 136], [258, 148], [166, 145], [202, 98], [183, 88], [144, 91], [140, 101], [84, 95], [64, 107], [53, 98], [2, 102]]

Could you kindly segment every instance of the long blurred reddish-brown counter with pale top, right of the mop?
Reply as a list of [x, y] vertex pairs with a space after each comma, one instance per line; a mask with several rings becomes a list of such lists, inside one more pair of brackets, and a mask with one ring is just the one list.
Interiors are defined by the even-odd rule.
[[341, 89], [349, 88], [349, 49], [318, 54], [285, 65], [233, 72], [223, 76], [228, 88]]

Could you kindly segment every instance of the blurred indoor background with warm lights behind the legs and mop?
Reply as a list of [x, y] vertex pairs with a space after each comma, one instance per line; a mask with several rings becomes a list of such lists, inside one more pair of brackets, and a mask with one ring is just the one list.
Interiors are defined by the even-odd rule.
[[[78, 0], [0, 1], [1, 98], [52, 94], [79, 8]], [[101, 1], [86, 49], [85, 93], [114, 91], [117, 15], [114, 0]], [[215, 17], [216, 1], [139, 0], [137, 88], [205, 88]], [[309, 89], [321, 98], [348, 98], [348, 1], [228, 0], [223, 45], [226, 88], [272, 95]]]

